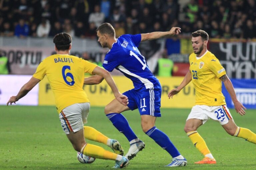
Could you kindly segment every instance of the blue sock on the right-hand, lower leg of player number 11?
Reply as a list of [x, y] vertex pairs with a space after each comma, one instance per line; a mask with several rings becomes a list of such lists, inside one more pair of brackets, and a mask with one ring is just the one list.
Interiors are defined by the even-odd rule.
[[180, 155], [180, 152], [173, 145], [169, 137], [156, 127], [149, 129], [146, 135], [151, 137], [159, 146], [165, 149], [173, 158]]

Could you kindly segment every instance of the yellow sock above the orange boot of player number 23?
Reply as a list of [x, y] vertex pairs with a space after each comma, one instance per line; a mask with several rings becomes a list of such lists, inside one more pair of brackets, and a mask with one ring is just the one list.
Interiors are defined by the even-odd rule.
[[195, 145], [195, 147], [205, 156], [210, 154], [210, 150], [208, 149], [204, 139], [197, 133], [197, 131], [190, 131], [187, 133], [188, 137]]

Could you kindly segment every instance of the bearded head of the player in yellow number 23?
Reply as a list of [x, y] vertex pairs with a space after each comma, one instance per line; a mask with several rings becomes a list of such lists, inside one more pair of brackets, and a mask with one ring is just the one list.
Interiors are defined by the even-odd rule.
[[200, 54], [204, 49], [206, 49], [206, 45], [208, 42], [208, 34], [203, 30], [197, 30], [192, 33], [192, 47], [195, 54]]

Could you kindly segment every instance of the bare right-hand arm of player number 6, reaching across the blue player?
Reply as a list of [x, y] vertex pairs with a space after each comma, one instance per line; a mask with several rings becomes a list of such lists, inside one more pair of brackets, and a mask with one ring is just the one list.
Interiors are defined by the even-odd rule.
[[113, 91], [115, 98], [124, 106], [128, 105], [128, 98], [118, 91], [112, 76], [107, 70], [104, 70], [103, 68], [97, 66], [94, 68], [92, 73], [102, 76], [110, 86], [111, 90]]

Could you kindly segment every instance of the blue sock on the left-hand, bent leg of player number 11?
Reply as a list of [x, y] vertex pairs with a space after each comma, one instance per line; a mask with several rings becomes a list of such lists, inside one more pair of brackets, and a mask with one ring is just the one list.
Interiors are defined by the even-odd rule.
[[138, 138], [131, 127], [129, 126], [128, 121], [121, 113], [110, 113], [106, 115], [108, 119], [112, 122], [112, 124], [119, 130], [121, 133], [125, 135], [125, 137], [131, 141], [133, 139]]

